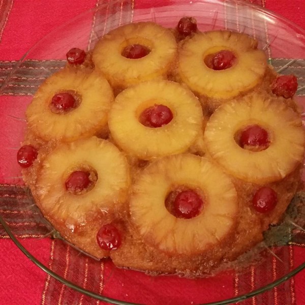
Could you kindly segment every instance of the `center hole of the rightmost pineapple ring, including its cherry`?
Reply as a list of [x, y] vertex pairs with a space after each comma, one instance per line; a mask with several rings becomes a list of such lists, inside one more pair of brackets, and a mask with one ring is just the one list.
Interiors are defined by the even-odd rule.
[[270, 133], [259, 124], [246, 125], [234, 134], [238, 146], [250, 151], [262, 151], [270, 146]]

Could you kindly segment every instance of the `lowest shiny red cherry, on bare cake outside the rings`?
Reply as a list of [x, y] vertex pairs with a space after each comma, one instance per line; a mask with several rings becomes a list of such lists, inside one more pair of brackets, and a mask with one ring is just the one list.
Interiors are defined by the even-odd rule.
[[98, 231], [97, 242], [103, 250], [116, 250], [121, 245], [121, 235], [115, 226], [107, 224]]

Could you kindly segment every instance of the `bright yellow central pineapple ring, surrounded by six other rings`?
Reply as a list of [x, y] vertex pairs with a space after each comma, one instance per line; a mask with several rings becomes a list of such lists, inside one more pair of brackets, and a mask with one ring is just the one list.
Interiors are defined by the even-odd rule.
[[[155, 104], [169, 107], [173, 119], [160, 128], [145, 127], [139, 116]], [[201, 130], [202, 108], [193, 93], [178, 83], [142, 82], [117, 95], [109, 112], [108, 125], [121, 148], [139, 159], [150, 160], [186, 151]]]

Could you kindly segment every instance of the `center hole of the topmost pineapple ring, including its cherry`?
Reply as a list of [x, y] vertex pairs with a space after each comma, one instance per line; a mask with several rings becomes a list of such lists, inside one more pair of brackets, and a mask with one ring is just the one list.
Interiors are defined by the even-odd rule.
[[153, 42], [143, 37], [129, 38], [120, 44], [120, 54], [128, 59], [139, 59], [147, 56], [153, 49]]

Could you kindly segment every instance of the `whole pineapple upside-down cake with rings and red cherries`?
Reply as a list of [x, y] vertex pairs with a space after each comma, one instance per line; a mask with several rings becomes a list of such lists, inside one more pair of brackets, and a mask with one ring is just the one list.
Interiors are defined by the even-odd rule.
[[26, 110], [17, 161], [44, 217], [96, 258], [211, 273], [263, 239], [298, 189], [297, 79], [257, 41], [139, 22], [67, 65]]

